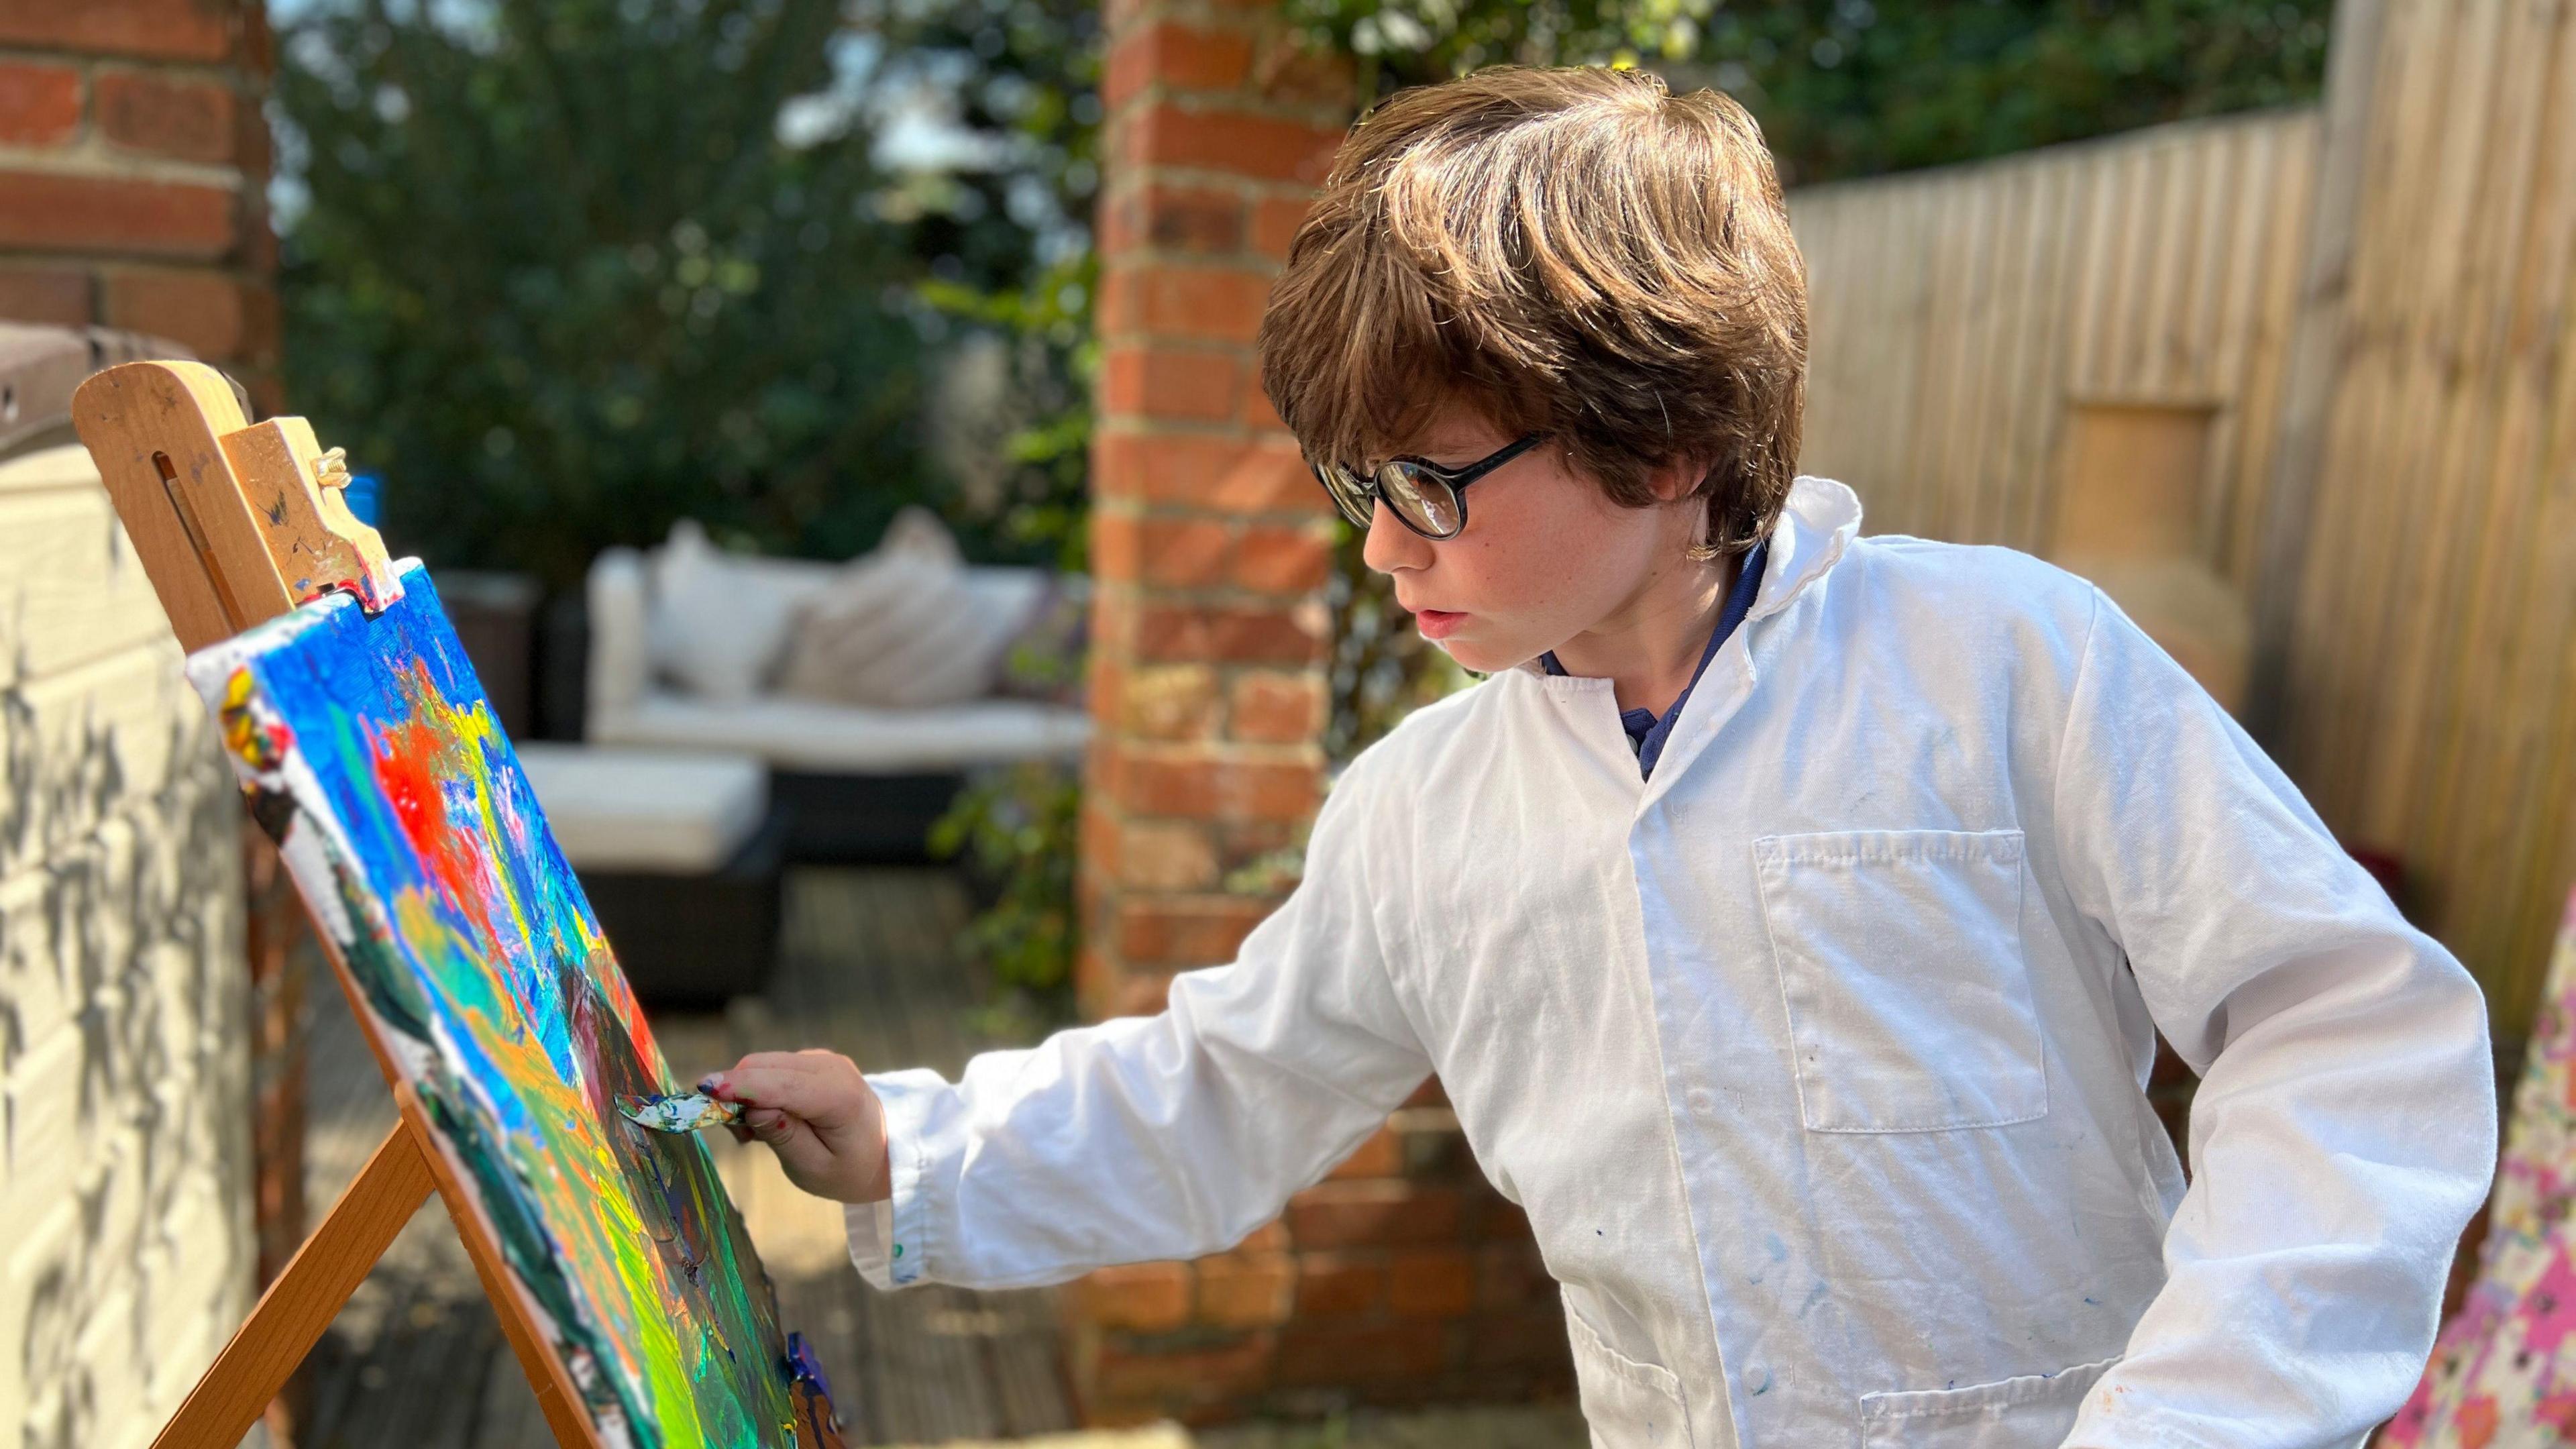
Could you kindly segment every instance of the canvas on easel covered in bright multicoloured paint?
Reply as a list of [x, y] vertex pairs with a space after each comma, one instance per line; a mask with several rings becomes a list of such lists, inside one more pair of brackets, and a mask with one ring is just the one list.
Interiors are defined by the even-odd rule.
[[[603, 1444], [829, 1444], [714, 1158], [417, 562], [188, 660], [252, 812]], [[456, 1204], [451, 1204], [456, 1207]]]

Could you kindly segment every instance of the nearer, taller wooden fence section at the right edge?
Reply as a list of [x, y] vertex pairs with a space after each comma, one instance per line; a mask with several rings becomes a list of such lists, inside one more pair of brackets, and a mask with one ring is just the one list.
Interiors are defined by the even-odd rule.
[[2519, 1039], [2576, 879], [2576, 8], [2391, 0], [2372, 59], [2277, 748]]

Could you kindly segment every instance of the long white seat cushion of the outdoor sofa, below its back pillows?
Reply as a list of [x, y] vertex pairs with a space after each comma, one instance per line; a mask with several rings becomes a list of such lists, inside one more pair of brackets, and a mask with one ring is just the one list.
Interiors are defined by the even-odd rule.
[[652, 691], [626, 714], [590, 722], [592, 740], [672, 750], [747, 750], [817, 773], [961, 771], [1030, 758], [1077, 758], [1090, 714], [1028, 699], [974, 699], [945, 709], [868, 709], [760, 696], [716, 704]]

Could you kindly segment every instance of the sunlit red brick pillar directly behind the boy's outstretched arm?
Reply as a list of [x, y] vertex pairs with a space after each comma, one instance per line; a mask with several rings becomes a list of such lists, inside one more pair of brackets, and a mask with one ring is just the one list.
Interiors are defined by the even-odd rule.
[[[1280, 900], [1314, 817], [1332, 511], [1260, 392], [1252, 335], [1350, 119], [1347, 67], [1260, 3], [1118, 3], [1103, 83], [1090, 1016], [1157, 1011]], [[1564, 1392], [1528, 1222], [1437, 1088], [1244, 1245], [1064, 1297], [1095, 1423]]]

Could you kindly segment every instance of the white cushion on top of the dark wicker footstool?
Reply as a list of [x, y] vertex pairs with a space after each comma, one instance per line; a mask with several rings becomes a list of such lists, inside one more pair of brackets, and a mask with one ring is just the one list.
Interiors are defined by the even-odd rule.
[[739, 753], [531, 743], [518, 768], [574, 869], [708, 874], [770, 810], [768, 768]]

